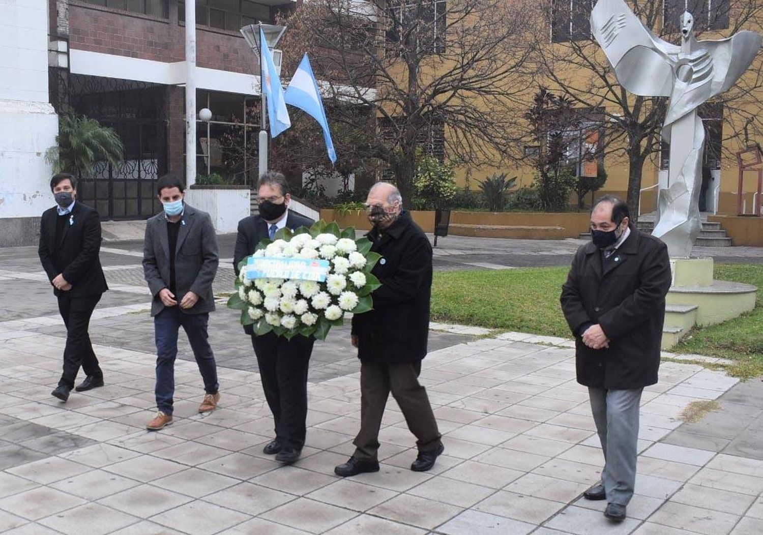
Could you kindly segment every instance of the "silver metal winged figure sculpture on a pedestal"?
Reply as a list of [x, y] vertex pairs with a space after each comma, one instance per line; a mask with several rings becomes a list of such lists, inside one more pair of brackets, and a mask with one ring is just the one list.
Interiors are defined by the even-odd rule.
[[660, 188], [659, 219], [652, 234], [670, 256], [689, 256], [699, 234], [699, 196], [705, 134], [697, 108], [726, 92], [750, 66], [761, 36], [740, 31], [723, 40], [694, 37], [694, 16], [681, 15], [681, 47], [656, 37], [623, 0], [599, 0], [591, 33], [612, 64], [617, 81], [642, 96], [666, 96], [662, 139], [671, 143], [667, 188]]

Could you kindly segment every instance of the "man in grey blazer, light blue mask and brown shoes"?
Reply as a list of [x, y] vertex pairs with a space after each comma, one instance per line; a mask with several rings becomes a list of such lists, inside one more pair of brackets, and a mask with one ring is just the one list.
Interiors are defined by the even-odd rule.
[[159, 409], [146, 425], [149, 430], [172, 424], [180, 327], [188, 336], [204, 379], [206, 394], [198, 411], [214, 411], [220, 399], [217, 365], [207, 334], [209, 313], [214, 311], [212, 281], [217, 272], [217, 237], [209, 214], [186, 205], [183, 190], [178, 177], [166, 175], [159, 179], [156, 191], [164, 209], [147, 221], [143, 242], [143, 274], [153, 295]]

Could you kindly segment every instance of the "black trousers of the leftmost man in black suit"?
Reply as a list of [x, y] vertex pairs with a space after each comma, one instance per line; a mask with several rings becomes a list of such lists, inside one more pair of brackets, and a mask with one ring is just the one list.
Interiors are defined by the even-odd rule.
[[95, 358], [88, 328], [95, 305], [101, 301], [101, 295], [89, 297], [69, 297], [67, 292], [58, 296], [58, 310], [66, 325], [66, 347], [63, 350], [63, 374], [59, 386], [74, 388], [79, 366], [85, 375], [103, 377], [98, 359]]

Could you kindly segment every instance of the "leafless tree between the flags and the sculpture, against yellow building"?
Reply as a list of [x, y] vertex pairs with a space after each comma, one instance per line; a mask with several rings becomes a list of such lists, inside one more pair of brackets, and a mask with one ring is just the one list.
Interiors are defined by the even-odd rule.
[[[536, 6], [532, 0], [303, 2], [284, 20], [286, 72], [309, 54], [326, 83], [333, 122], [343, 125], [337, 130], [353, 140], [344, 147], [385, 163], [410, 206], [422, 153], [444, 153], [461, 165], [499, 165], [516, 155], [523, 93], [536, 72], [533, 30], [542, 27]], [[359, 121], [358, 108], [371, 121]]]

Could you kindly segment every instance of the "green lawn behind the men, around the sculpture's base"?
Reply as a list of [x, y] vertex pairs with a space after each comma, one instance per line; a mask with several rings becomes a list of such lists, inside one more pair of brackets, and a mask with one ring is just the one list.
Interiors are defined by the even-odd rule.
[[[571, 337], [559, 306], [567, 268], [435, 272], [435, 321], [479, 325], [524, 333]], [[677, 353], [721, 356], [737, 362], [740, 377], [763, 375], [763, 266], [720, 265], [716, 279], [758, 286], [758, 303], [749, 314], [712, 327], [692, 330]]]

